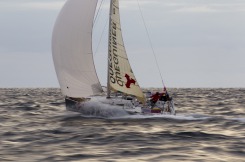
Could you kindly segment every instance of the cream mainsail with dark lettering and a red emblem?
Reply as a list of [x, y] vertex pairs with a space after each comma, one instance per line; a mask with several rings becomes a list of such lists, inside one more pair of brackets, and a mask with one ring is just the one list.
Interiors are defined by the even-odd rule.
[[119, 1], [112, 0], [111, 3], [108, 52], [108, 82], [110, 88], [114, 91], [134, 95], [140, 101], [145, 102], [144, 94], [136, 81], [124, 47], [120, 24]]

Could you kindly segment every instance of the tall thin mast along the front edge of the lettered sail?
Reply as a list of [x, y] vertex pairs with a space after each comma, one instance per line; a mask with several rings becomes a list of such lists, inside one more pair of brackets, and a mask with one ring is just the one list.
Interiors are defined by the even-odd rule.
[[111, 34], [111, 14], [112, 14], [112, 0], [110, 1], [110, 14], [109, 14], [109, 32], [108, 32], [108, 65], [107, 65], [107, 98], [111, 97], [110, 87], [110, 34]]

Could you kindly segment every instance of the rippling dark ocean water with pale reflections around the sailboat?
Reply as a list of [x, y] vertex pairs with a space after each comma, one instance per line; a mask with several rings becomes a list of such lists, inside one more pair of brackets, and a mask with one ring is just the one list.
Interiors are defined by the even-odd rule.
[[0, 161], [245, 162], [245, 89], [170, 89], [176, 116], [84, 117], [59, 89], [0, 89]]

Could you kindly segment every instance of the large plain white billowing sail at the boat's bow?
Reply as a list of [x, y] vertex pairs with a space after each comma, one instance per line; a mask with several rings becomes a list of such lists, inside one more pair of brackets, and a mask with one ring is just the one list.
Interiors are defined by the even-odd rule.
[[102, 92], [92, 53], [92, 27], [98, 0], [68, 0], [53, 30], [52, 53], [62, 93], [88, 97]]

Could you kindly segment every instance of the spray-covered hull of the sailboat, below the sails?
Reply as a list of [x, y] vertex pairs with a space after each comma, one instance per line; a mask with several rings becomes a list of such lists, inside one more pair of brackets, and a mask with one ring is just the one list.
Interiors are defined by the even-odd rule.
[[[166, 106], [166, 105], [165, 105]], [[167, 112], [162, 102], [157, 102], [154, 107], [161, 109], [160, 112], [152, 112], [149, 105], [142, 105], [135, 100], [126, 100], [120, 97], [106, 98], [105, 96], [93, 96], [86, 101], [75, 101], [66, 98], [66, 108], [69, 111], [79, 112], [85, 116], [115, 117], [124, 115], [154, 115], [172, 114], [175, 115], [174, 107]]]

